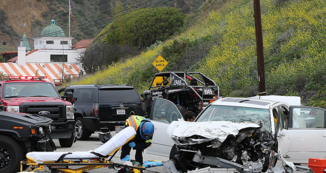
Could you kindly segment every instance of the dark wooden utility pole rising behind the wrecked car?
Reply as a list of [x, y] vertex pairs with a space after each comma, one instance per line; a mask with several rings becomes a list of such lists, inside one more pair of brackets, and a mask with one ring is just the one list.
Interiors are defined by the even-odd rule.
[[255, 17], [255, 29], [256, 29], [257, 71], [258, 71], [258, 82], [259, 82], [258, 90], [259, 90], [259, 96], [266, 96], [260, 0], [254, 0], [254, 17]]

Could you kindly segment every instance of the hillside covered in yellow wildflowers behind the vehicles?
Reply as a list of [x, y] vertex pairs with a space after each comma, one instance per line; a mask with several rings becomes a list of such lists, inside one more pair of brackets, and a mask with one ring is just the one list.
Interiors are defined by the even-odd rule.
[[[326, 2], [261, 0], [260, 4], [268, 95], [301, 96], [306, 105], [326, 107]], [[161, 54], [169, 62], [164, 71], [202, 72], [219, 85], [223, 97], [257, 95], [253, 2], [212, 6], [214, 10], [202, 11], [204, 17], [185, 32], [70, 84], [127, 83], [142, 93], [158, 72], [151, 63]]]

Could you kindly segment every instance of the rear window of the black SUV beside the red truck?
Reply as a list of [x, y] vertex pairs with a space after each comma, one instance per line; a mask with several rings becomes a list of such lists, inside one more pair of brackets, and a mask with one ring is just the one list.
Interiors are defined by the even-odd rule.
[[100, 89], [98, 90], [98, 102], [139, 102], [139, 94], [135, 89]]

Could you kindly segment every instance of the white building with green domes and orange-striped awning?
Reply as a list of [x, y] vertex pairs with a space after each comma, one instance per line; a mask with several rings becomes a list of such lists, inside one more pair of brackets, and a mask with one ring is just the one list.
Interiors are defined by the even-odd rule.
[[[48, 80], [63, 79], [66, 75], [78, 75], [82, 73], [76, 58], [84, 52], [93, 39], [85, 39], [72, 45], [73, 37], [65, 37], [62, 28], [55, 25], [45, 27], [41, 37], [34, 38], [34, 49], [31, 50], [26, 35], [21, 39], [21, 46], [17, 52], [1, 53], [5, 58], [17, 56], [0, 63], [0, 72], [8, 76], [49, 76]], [[6, 58], [8, 59], [8, 58]]]

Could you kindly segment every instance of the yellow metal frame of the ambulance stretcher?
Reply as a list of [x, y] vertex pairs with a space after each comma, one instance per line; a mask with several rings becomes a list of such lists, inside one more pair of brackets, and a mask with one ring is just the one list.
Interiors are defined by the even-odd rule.
[[[127, 140], [130, 141], [132, 140], [133, 137]], [[126, 142], [126, 143], [127, 143]], [[125, 143], [125, 144], [126, 144]], [[43, 163], [36, 163], [33, 159], [30, 157], [26, 156], [27, 161], [21, 161], [21, 172], [23, 171], [23, 166], [29, 166], [28, 169], [26, 169], [26, 172], [35, 172], [36, 170], [44, 170], [44, 167], [49, 167], [49, 172], [55, 172], [57, 170], [64, 171], [64, 172], [69, 172], [69, 173], [81, 173], [101, 167], [109, 167], [112, 166], [116, 170], [120, 168], [128, 168], [134, 173], [140, 173], [140, 170], [146, 170], [144, 166], [132, 166], [132, 165], [127, 165], [123, 163], [113, 163], [111, 162], [112, 158], [114, 155], [118, 152], [118, 149], [120, 147], [116, 148], [113, 150], [112, 153], [108, 155], [108, 157], [92, 157], [92, 158], [63, 158], [59, 162], [56, 161], [46, 161]], [[67, 152], [68, 153], [68, 152]], [[109, 158], [109, 160], [106, 160]], [[71, 161], [69, 159], [74, 159], [74, 160], [79, 160], [79, 161]], [[69, 168], [69, 166], [82, 166], [78, 167], [75, 169]]]

